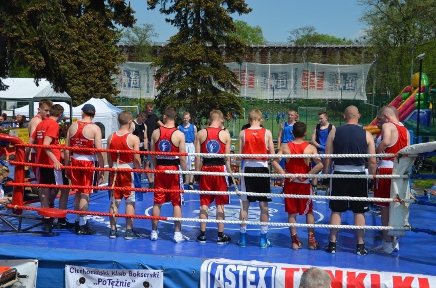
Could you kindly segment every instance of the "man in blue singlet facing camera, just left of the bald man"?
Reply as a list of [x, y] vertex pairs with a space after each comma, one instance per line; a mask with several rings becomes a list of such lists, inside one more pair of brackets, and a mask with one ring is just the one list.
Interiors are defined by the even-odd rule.
[[[327, 143], [327, 136], [329, 136], [330, 131], [335, 128], [335, 125], [329, 123], [329, 116], [327, 112], [322, 111], [318, 113], [319, 124], [317, 124], [312, 131], [312, 138], [310, 143], [316, 147], [318, 154], [324, 154], [325, 144]], [[324, 161], [324, 158], [321, 158]], [[318, 179], [314, 178], [312, 180], [312, 194], [317, 195], [316, 186], [318, 184]], [[326, 188], [329, 189], [329, 188]], [[325, 194], [329, 194], [330, 191], [325, 191]]]

